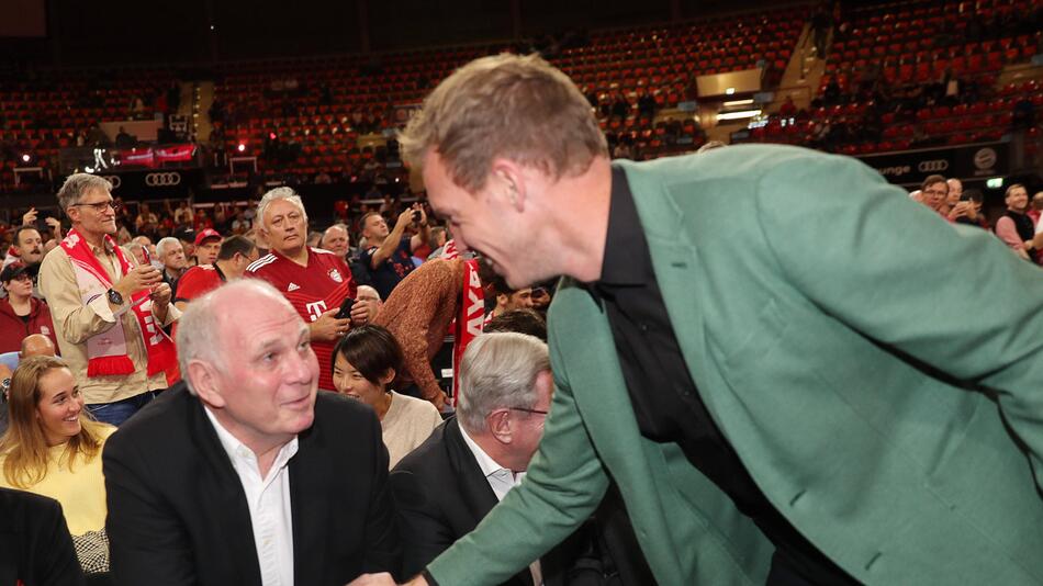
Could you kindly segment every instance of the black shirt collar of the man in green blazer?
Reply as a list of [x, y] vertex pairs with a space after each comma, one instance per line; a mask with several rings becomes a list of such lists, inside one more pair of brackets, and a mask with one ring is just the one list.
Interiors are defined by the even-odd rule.
[[621, 168], [612, 168], [612, 195], [608, 209], [608, 235], [602, 260], [599, 285], [641, 285], [651, 273], [648, 241], [633, 204], [633, 193]]

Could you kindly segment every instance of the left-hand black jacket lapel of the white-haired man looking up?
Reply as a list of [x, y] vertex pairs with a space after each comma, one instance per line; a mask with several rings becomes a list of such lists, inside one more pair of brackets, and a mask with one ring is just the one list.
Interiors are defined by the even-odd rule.
[[199, 493], [202, 498], [210, 502], [208, 508], [217, 514], [215, 518], [222, 519], [221, 532], [237, 536], [236, 539], [225, 539], [220, 542], [227, 551], [228, 560], [232, 561], [231, 565], [242, 568], [239, 574], [242, 583], [259, 584], [260, 563], [257, 560], [254, 526], [250, 522], [250, 509], [246, 503], [243, 483], [232, 466], [228, 453], [217, 439], [217, 432], [206, 417], [203, 404], [194, 397], [189, 397], [188, 405], [191, 412], [189, 417], [192, 428], [191, 437], [195, 439], [199, 447], [202, 463], [211, 471], [211, 474], [200, 474], [197, 478]]

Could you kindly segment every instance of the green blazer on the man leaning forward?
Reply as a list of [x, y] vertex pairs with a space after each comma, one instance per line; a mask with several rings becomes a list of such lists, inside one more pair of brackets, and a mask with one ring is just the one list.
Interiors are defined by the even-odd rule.
[[[866, 584], [1043, 583], [1043, 272], [853, 159], [620, 165], [700, 396], [794, 527]], [[602, 307], [565, 280], [549, 327], [557, 391], [527, 477], [431, 575], [514, 574], [612, 475], [660, 584], [763, 584], [772, 544], [641, 437]]]

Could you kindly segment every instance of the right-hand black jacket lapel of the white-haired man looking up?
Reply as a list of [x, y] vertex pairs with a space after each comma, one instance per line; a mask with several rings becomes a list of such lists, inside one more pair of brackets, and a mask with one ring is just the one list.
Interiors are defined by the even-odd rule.
[[298, 452], [290, 460], [294, 584], [322, 582], [328, 538], [325, 528], [329, 527], [329, 499], [321, 497], [327, 492], [329, 472], [324, 453], [322, 432], [313, 425], [298, 436]]

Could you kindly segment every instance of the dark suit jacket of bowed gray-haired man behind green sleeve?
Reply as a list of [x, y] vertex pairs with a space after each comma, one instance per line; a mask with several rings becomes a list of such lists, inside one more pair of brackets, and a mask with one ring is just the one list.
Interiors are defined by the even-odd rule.
[[[403, 574], [413, 575], [470, 532], [496, 506], [496, 494], [468, 448], [455, 417], [439, 426], [391, 473], [391, 489], [403, 543]], [[637, 550], [636, 542], [635, 552]], [[640, 553], [638, 553], [640, 555]], [[575, 533], [540, 557], [543, 583], [564, 585], [594, 578], [601, 584], [603, 553], [594, 545], [592, 526]], [[624, 582], [626, 583], [626, 581]], [[504, 583], [532, 586], [528, 568]], [[650, 584], [650, 583], [644, 583]]]

